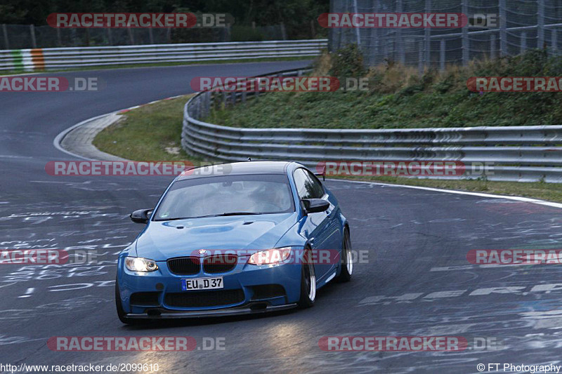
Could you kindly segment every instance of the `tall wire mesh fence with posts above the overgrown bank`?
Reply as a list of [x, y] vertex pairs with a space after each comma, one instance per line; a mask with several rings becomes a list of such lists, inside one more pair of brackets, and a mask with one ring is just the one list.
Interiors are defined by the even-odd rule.
[[331, 13], [463, 13], [462, 28], [333, 28], [329, 49], [358, 44], [366, 65], [466, 65], [470, 60], [518, 55], [528, 48], [562, 50], [560, 0], [332, 0]]

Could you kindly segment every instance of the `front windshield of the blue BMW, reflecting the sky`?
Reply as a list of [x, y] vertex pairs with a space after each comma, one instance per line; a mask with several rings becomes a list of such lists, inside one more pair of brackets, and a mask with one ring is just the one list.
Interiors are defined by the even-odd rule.
[[287, 175], [227, 175], [178, 180], [154, 217], [162, 221], [293, 211]]

